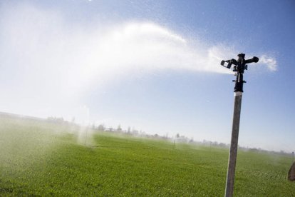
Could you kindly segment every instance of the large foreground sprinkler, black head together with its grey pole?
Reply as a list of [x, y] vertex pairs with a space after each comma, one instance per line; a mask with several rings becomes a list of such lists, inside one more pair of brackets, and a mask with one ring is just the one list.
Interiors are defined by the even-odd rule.
[[221, 65], [227, 69], [231, 69], [232, 65], [234, 75], [237, 76], [234, 86], [234, 118], [232, 120], [232, 140], [229, 148], [229, 163], [227, 168], [227, 183], [225, 186], [226, 197], [232, 197], [234, 193], [234, 172], [236, 168], [237, 161], [237, 148], [238, 148], [238, 138], [239, 138], [239, 118], [241, 115], [241, 104], [242, 104], [242, 94], [243, 94], [243, 84], [246, 81], [243, 80], [244, 70], [248, 69], [247, 64], [257, 63], [259, 58], [254, 56], [252, 59], [245, 60], [245, 54], [238, 54], [238, 59], [229, 59], [227, 61], [222, 60]]

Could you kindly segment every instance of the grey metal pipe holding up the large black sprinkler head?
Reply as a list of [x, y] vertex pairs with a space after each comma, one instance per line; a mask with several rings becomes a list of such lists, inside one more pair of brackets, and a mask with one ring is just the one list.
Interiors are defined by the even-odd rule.
[[226, 197], [232, 197], [234, 193], [234, 172], [237, 161], [237, 148], [239, 138], [239, 118], [241, 115], [242, 92], [234, 92], [234, 118], [232, 121], [232, 141], [229, 149], [229, 163], [227, 168], [227, 184], [225, 187]]

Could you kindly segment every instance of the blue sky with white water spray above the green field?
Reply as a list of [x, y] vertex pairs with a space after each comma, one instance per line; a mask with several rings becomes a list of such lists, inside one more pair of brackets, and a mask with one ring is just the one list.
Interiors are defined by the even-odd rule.
[[1, 1], [0, 111], [295, 151], [294, 1]]

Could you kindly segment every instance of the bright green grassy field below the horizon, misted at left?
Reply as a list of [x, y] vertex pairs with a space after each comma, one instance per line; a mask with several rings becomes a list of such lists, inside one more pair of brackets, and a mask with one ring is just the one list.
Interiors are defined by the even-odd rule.
[[[85, 133], [0, 116], [0, 196], [224, 196], [226, 148], [90, 130], [85, 146]], [[290, 156], [239, 151], [234, 196], [295, 196], [290, 166]]]

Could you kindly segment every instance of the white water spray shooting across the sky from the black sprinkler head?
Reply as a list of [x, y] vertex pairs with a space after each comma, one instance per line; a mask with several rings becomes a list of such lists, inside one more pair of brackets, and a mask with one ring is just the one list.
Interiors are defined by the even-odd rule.
[[[0, 18], [0, 88], [6, 92], [1, 103], [19, 103], [0, 106], [4, 111], [28, 113], [38, 103], [38, 108], [65, 106], [88, 87], [126, 75], [167, 69], [231, 74], [219, 64], [237, 55], [222, 45], [192, 44], [151, 22], [84, 26], [27, 5], [1, 9]], [[275, 59], [262, 56], [260, 62], [276, 70]]]

